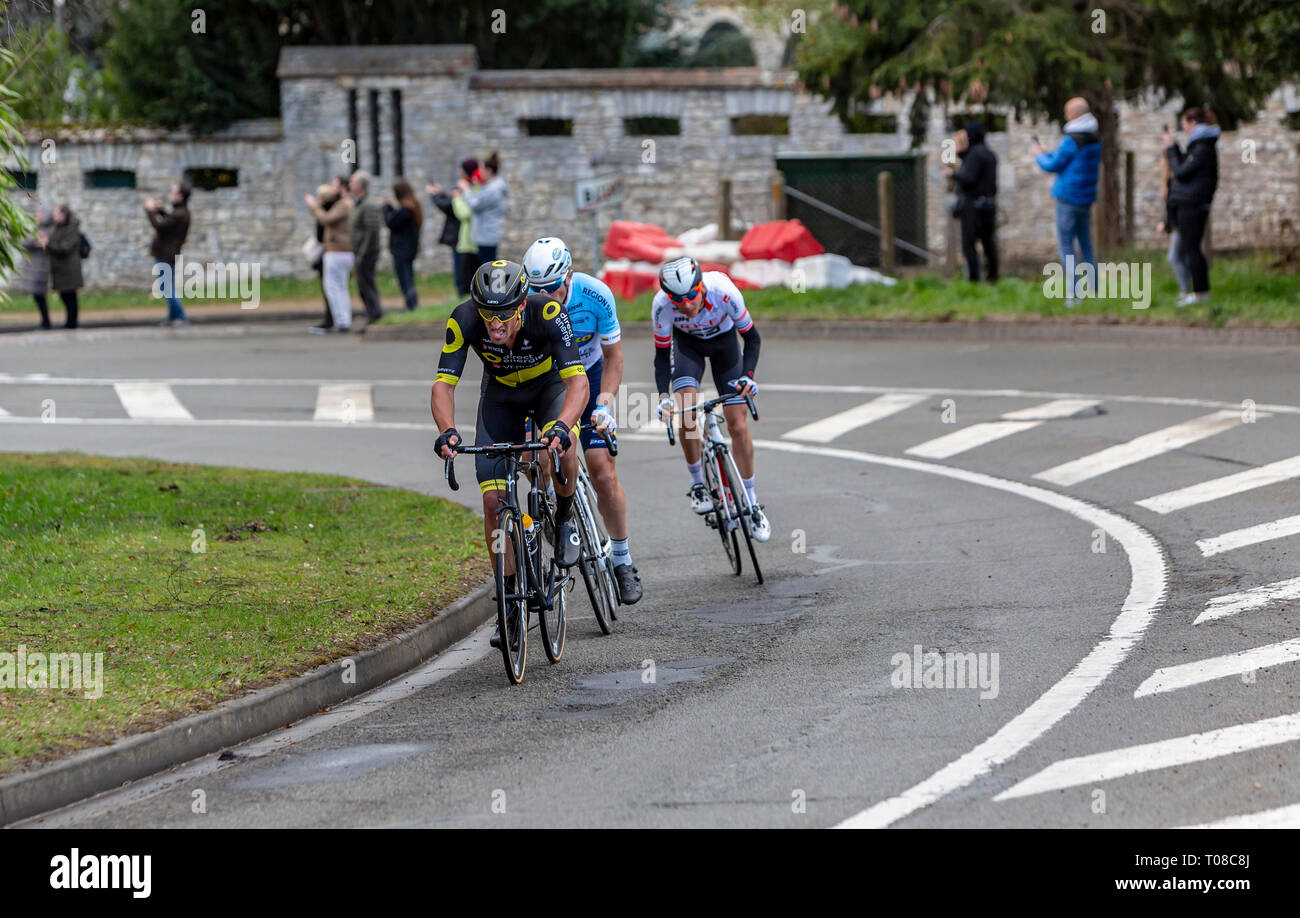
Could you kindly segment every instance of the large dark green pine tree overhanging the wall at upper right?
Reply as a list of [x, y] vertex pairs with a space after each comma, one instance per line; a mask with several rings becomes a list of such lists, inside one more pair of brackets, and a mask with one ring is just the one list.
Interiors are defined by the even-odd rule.
[[1118, 104], [1153, 92], [1208, 105], [1231, 130], [1296, 77], [1294, 0], [846, 0], [800, 42], [797, 69], [841, 117], [923, 90], [939, 101], [1061, 118], [1071, 96], [1101, 126], [1104, 241], [1119, 238]]

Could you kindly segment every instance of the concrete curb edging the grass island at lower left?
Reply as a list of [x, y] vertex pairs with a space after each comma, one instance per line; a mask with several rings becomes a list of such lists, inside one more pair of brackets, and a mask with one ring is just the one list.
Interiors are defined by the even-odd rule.
[[488, 583], [430, 622], [350, 658], [356, 663], [355, 684], [343, 683], [335, 661], [161, 729], [5, 778], [0, 780], [0, 826], [218, 752], [369, 692], [464, 638], [495, 610]]

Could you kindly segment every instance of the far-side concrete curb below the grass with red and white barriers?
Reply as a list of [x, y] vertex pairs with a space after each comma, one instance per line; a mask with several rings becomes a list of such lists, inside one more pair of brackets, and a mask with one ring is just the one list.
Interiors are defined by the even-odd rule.
[[[1102, 325], [1087, 322], [909, 322], [880, 320], [790, 320], [766, 319], [763, 334], [788, 338], [870, 338], [872, 341], [1039, 341], [1093, 345], [1236, 345], [1245, 347], [1294, 347], [1300, 345], [1300, 328], [1193, 328], [1187, 325]], [[650, 322], [624, 322], [625, 333], [649, 334]], [[374, 325], [365, 341], [441, 339], [443, 326]]]

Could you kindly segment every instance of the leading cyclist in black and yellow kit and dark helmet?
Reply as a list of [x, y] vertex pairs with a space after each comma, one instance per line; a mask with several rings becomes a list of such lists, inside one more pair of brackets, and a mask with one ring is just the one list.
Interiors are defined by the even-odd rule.
[[[455, 390], [469, 348], [484, 361], [478, 398], [476, 446], [523, 443], [524, 421], [533, 415], [538, 437], [560, 455], [566, 484], [555, 484], [555, 558], [563, 567], [577, 563], [581, 540], [569, 520], [577, 486], [577, 424], [588, 403], [586, 371], [564, 308], [546, 294], [529, 294], [523, 265], [490, 261], [474, 272], [469, 299], [447, 320], [438, 376], [429, 395], [433, 420], [442, 430], [434, 450], [448, 458], [460, 433], [455, 428]], [[504, 459], [474, 456], [474, 473], [484, 495], [488, 554], [494, 544], [497, 514], [506, 497]], [[507, 592], [515, 589], [514, 559], [506, 555]]]

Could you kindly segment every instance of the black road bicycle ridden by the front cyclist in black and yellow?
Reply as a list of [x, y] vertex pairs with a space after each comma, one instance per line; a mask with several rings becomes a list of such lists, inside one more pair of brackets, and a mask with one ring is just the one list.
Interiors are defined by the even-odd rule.
[[[494, 575], [497, 583], [497, 625], [500, 628], [500, 655], [506, 663], [506, 676], [512, 685], [524, 680], [528, 667], [529, 618], [538, 612], [542, 649], [551, 663], [564, 655], [568, 633], [566, 618], [567, 593], [573, 579], [556, 563], [555, 558], [555, 502], [547, 489], [540, 486], [542, 464], [538, 459], [521, 459], [525, 452], [545, 452], [546, 443], [491, 443], [489, 446], [456, 446], [451, 458], [445, 459], [443, 473], [451, 490], [460, 490], [456, 481], [455, 456], [485, 455], [506, 460], [506, 497], [502, 498], [493, 533]], [[552, 459], [551, 473], [562, 485], [560, 458]], [[520, 510], [517, 477], [528, 479], [528, 511]], [[510, 553], [507, 555], [507, 551]], [[515, 592], [506, 592], [506, 559], [515, 559]]]

